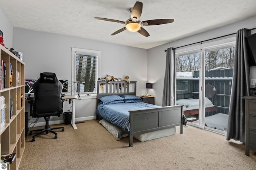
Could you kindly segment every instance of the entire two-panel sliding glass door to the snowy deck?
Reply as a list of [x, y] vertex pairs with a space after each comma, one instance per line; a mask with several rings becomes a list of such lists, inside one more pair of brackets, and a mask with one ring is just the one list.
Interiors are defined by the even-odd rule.
[[176, 55], [176, 104], [189, 125], [226, 133], [234, 47]]

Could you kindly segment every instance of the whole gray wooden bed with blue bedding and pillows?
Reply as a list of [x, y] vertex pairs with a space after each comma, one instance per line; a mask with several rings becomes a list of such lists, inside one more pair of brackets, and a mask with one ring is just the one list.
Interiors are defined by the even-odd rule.
[[[104, 88], [100, 88], [102, 86]], [[160, 107], [140, 102], [134, 81], [97, 81], [97, 98], [96, 118], [101, 117], [105, 123], [110, 123], [108, 126], [129, 135], [129, 147], [132, 147], [133, 137], [141, 134], [157, 135], [159, 131], [164, 133], [179, 125], [183, 133], [183, 105]]]

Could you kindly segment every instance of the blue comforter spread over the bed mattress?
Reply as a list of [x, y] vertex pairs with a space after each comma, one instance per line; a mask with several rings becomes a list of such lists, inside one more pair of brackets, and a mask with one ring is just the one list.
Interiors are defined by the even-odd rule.
[[129, 110], [147, 109], [160, 107], [144, 102], [135, 103], [117, 103], [117, 104], [102, 104], [99, 103], [96, 113], [110, 123], [121, 127], [124, 131], [130, 131], [130, 113]]

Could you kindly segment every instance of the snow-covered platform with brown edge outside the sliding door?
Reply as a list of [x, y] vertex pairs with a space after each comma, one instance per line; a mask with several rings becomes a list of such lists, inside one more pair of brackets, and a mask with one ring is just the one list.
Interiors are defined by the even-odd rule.
[[[184, 105], [184, 115], [198, 115], [199, 114], [199, 99], [180, 99], [176, 100], [177, 105]], [[212, 104], [212, 102], [205, 97], [205, 113], [210, 111], [215, 111], [216, 106]]]

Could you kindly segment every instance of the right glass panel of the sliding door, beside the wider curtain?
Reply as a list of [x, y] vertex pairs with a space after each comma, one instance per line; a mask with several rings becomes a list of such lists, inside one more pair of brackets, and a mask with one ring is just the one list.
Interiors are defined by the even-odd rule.
[[205, 55], [205, 128], [227, 131], [233, 80], [234, 47], [210, 49]]

